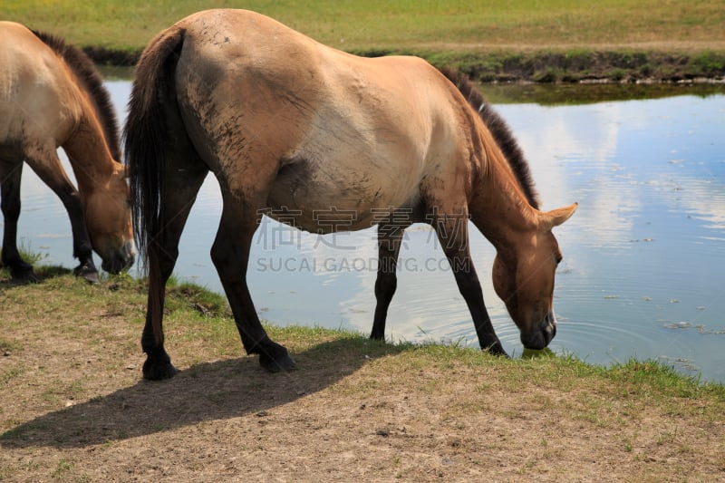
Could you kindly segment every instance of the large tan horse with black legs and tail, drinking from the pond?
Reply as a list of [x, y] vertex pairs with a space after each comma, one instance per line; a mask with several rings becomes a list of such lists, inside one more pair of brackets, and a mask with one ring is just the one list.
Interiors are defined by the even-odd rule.
[[164, 287], [208, 171], [223, 198], [211, 257], [242, 343], [266, 369], [295, 362], [267, 336], [247, 288], [263, 214], [317, 233], [378, 225], [375, 339], [395, 292], [402, 229], [430, 223], [481, 348], [504, 353], [470, 261], [470, 219], [498, 250], [494, 285], [522, 343], [546, 347], [556, 333], [561, 260], [551, 230], [576, 205], [546, 213], [532, 206], [515, 141], [498, 116], [495, 128], [487, 126], [481, 115], [491, 111], [479, 113], [477, 92], [459, 84], [419, 58], [356, 57], [243, 10], [193, 14], [154, 38], [136, 69], [124, 130], [137, 242], [149, 270], [144, 377], [176, 372], [164, 349]]

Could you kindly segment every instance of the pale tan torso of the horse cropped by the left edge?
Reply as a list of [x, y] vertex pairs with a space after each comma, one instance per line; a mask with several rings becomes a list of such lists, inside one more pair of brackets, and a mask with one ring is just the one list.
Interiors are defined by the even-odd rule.
[[[67, 70], [53, 50], [22, 24], [0, 22], [0, 145], [56, 143], [74, 115], [63, 97], [72, 95]], [[53, 149], [56, 146], [53, 146]]]

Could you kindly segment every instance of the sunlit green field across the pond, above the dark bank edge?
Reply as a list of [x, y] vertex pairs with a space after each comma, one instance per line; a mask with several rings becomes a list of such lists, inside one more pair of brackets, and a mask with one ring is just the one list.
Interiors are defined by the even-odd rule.
[[725, 42], [721, 0], [5, 0], [0, 18], [81, 45], [138, 50], [161, 29], [212, 6], [256, 10], [353, 52]]

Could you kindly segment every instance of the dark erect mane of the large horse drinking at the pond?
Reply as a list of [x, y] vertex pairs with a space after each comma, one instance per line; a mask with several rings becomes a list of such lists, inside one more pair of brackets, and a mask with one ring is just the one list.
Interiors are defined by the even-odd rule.
[[486, 127], [491, 132], [493, 139], [498, 143], [498, 148], [504, 153], [509, 166], [514, 171], [518, 184], [524, 190], [528, 204], [538, 209], [539, 200], [536, 188], [534, 188], [534, 179], [531, 177], [531, 171], [528, 168], [527, 159], [524, 153], [518, 147], [517, 140], [508, 129], [508, 125], [498, 112], [484, 99], [483, 94], [478, 91], [473, 82], [469, 78], [458, 71], [450, 69], [441, 69], [440, 72], [448, 78], [450, 82], [459, 89], [463, 97], [469, 101], [469, 104], [478, 112]]

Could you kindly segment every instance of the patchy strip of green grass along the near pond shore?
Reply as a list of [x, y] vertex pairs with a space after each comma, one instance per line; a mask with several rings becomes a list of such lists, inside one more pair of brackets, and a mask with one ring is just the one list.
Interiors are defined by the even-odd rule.
[[[29, 259], [38, 256], [26, 254]], [[100, 285], [89, 285], [71, 275], [70, 270], [57, 266], [35, 266], [41, 282], [39, 284], [15, 285], [9, 280], [9, 273], [0, 267], [0, 293], [4, 293], [5, 304], [26, 305], [28, 307], [43, 299], [43, 312], [50, 311], [58, 318], [78, 318], [78, 314], [99, 310], [109, 316], [122, 315], [135, 321], [140, 327], [145, 314], [146, 283], [130, 275], [107, 276]], [[218, 345], [218, 353], [238, 353], [237, 329], [229, 309], [227, 298], [198, 285], [178, 283], [174, 277], [167, 285], [166, 318], [169, 327], [179, 327], [182, 340], [193, 341], [203, 336], [205, 344]], [[26, 308], [24, 310], [30, 310]], [[67, 324], [73, 331], [82, 331], [86, 338], [94, 332], [92, 327], [83, 324], [75, 327]], [[8, 326], [8, 330], [13, 327]], [[333, 360], [335, 353], [360, 353], [372, 359], [385, 354], [410, 353], [406, 358], [411, 368], [420, 369], [430, 364], [440, 368], [454, 368], [459, 364], [466, 366], [493, 365], [497, 371], [504, 372], [503, 380], [510, 379], [512, 387], [522, 380], [530, 379], [537, 384], [574, 385], [585, 379], [610, 381], [618, 386], [622, 397], [633, 394], [647, 396], [657, 394], [662, 398], [697, 398], [710, 394], [725, 401], [725, 386], [720, 383], [702, 382], [698, 377], [683, 375], [671, 366], [656, 361], [637, 361], [635, 359], [611, 367], [583, 362], [573, 354], [556, 355], [551, 351], [525, 351], [513, 360], [491, 358], [485, 353], [469, 349], [459, 343], [409, 343], [396, 344], [371, 341], [366, 334], [321, 327], [276, 327], [266, 325], [274, 340], [283, 340], [291, 350], [313, 351], [311, 359]], [[99, 333], [102, 339], [106, 334]], [[135, 344], [137, 341], [129, 343]], [[22, 350], [23, 344], [17, 340], [0, 339], [0, 346], [6, 350]], [[542, 370], [546, 367], [546, 370]], [[21, 371], [22, 372], [22, 371]], [[506, 375], [508, 373], [508, 375]], [[0, 376], [14, 377], [15, 373]]]

